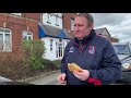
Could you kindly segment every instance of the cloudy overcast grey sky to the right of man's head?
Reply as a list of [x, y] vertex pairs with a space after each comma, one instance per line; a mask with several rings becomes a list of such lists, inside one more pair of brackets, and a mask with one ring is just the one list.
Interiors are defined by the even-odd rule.
[[119, 41], [131, 42], [131, 13], [91, 13], [95, 28], [106, 27]]

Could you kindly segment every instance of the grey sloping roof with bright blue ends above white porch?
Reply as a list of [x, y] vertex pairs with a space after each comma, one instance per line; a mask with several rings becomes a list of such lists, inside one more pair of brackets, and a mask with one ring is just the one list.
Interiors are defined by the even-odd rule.
[[39, 28], [39, 37], [57, 37], [57, 38], [71, 38], [71, 35], [67, 33], [64, 29], [51, 26], [51, 25], [46, 25], [46, 24], [38, 24]]

